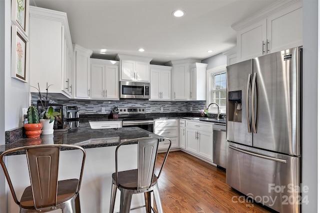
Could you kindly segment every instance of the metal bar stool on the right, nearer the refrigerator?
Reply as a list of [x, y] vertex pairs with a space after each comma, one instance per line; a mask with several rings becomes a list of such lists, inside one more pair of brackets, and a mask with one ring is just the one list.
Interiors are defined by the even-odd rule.
[[[158, 144], [160, 141], [169, 141], [169, 146], [161, 164], [158, 175], [154, 174], [155, 162], [158, 153]], [[118, 149], [122, 145], [137, 142], [138, 159], [137, 169], [118, 171]], [[153, 192], [155, 205], [158, 213], [162, 213], [159, 189], [157, 180], [171, 147], [171, 140], [164, 137], [144, 137], [136, 138], [129, 141], [121, 142], [115, 149], [115, 173], [112, 174], [112, 189], [110, 201], [110, 213], [113, 213], [116, 190], [121, 193], [120, 196], [120, 213], [130, 211], [131, 197], [133, 194], [144, 193], [146, 212], [151, 212], [151, 192]], [[139, 208], [142, 208], [139, 207]], [[136, 209], [136, 208], [134, 208]], [[154, 212], [154, 210], [152, 209]]]

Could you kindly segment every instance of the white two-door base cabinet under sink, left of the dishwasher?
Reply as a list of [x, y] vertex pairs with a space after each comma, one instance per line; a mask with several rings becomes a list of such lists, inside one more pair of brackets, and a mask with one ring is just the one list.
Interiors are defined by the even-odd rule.
[[[195, 156], [213, 160], [213, 130], [212, 124], [186, 121], [185, 149]], [[181, 134], [181, 133], [180, 133]]]

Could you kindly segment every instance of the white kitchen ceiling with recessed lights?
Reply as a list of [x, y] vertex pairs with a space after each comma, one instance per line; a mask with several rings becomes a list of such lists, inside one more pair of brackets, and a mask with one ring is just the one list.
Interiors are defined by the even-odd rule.
[[[229, 50], [236, 44], [231, 24], [275, 1], [30, 0], [30, 4], [66, 12], [72, 43], [92, 50], [93, 57], [114, 59], [116, 54], [127, 54], [164, 64], [202, 60]], [[175, 9], [186, 14], [173, 17]], [[100, 49], [107, 49], [106, 54], [99, 54]]]

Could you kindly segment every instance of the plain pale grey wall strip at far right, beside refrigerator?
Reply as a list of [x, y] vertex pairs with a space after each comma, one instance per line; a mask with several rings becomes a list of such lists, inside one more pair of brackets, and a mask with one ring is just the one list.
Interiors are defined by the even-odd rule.
[[316, 213], [318, 209], [318, 1], [303, 0], [303, 64], [302, 64], [302, 192], [308, 204], [302, 213]]

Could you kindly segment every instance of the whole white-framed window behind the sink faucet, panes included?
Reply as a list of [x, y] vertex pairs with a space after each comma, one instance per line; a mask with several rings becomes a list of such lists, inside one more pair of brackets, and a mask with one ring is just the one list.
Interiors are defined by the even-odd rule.
[[[219, 105], [220, 113], [226, 113], [226, 69], [224, 66], [219, 66], [207, 70], [207, 96], [206, 106], [210, 103]], [[217, 106], [212, 104], [208, 109], [209, 113], [217, 113]]]

